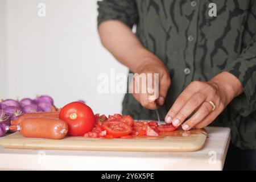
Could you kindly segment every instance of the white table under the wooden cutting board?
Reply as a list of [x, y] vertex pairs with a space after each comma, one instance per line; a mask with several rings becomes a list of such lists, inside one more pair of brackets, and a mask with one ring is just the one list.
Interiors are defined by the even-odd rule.
[[204, 147], [196, 152], [20, 150], [0, 146], [0, 169], [222, 170], [230, 129], [207, 127], [207, 132]]

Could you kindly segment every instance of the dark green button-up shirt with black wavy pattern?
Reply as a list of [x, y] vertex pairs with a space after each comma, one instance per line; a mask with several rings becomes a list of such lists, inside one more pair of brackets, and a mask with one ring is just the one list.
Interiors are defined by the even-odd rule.
[[[209, 15], [210, 3], [217, 5], [217, 16]], [[161, 119], [191, 81], [228, 71], [244, 93], [211, 125], [230, 127], [233, 144], [256, 149], [256, 0], [103, 0], [98, 6], [98, 24], [110, 19], [136, 24], [143, 46], [169, 69], [172, 85], [159, 109]], [[156, 119], [132, 94], [125, 95], [123, 114]]]

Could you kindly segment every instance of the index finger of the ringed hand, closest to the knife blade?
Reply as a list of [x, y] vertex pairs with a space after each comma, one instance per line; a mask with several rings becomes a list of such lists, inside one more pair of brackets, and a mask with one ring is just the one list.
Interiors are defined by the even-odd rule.
[[176, 99], [174, 105], [172, 105], [171, 109], [168, 111], [164, 121], [166, 121], [166, 123], [171, 123], [175, 115], [179, 113], [180, 109], [185, 105], [189, 98], [193, 96], [195, 92], [196, 90], [192, 86], [188, 86]]

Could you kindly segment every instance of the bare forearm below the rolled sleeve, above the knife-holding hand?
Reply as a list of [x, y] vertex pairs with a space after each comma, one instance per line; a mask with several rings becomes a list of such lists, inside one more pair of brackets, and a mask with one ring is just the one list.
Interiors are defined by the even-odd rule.
[[124, 23], [108, 20], [98, 27], [103, 46], [131, 71], [138, 72], [144, 64], [162, 64], [153, 53], [144, 48], [136, 35]]

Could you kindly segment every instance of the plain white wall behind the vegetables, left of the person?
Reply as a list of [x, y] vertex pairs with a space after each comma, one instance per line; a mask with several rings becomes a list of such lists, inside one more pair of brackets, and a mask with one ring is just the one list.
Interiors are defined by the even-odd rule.
[[[49, 94], [58, 107], [82, 99], [94, 113], [121, 111], [123, 94], [97, 92], [99, 73], [127, 68], [101, 46], [96, 0], [0, 1], [7, 12], [7, 97]], [[38, 16], [40, 2], [46, 17]]]

